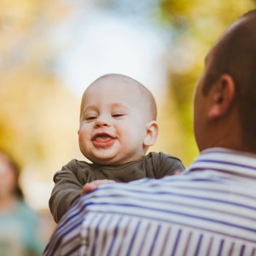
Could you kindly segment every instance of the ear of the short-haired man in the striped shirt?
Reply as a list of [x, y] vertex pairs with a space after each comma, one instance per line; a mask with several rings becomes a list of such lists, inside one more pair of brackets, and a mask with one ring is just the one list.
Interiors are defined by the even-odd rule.
[[234, 80], [228, 74], [222, 75], [209, 93], [211, 94], [211, 107], [208, 111], [208, 118], [216, 119], [227, 113], [234, 102], [236, 93]]

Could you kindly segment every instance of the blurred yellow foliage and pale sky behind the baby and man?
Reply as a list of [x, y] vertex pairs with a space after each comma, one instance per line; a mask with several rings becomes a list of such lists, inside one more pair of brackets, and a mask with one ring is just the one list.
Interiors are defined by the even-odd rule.
[[0, 148], [19, 162], [28, 204], [51, 223], [52, 177], [79, 152], [79, 103], [105, 73], [151, 90], [153, 148], [198, 154], [192, 100], [208, 49], [253, 0], [0, 0]]

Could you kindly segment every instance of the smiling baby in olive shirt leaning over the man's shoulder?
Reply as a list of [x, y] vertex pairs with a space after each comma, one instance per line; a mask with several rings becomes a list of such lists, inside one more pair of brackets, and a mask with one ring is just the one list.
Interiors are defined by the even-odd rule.
[[157, 136], [154, 96], [143, 84], [121, 74], [90, 84], [82, 97], [79, 126], [79, 148], [90, 162], [71, 160], [55, 173], [49, 199], [55, 222], [84, 194], [84, 184], [126, 183], [184, 170], [181, 160], [170, 154], [146, 155]]

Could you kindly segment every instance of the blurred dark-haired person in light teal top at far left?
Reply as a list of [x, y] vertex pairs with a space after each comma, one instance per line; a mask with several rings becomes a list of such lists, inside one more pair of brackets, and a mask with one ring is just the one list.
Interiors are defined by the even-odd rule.
[[0, 255], [36, 256], [44, 250], [39, 239], [39, 216], [24, 200], [20, 169], [0, 150]]

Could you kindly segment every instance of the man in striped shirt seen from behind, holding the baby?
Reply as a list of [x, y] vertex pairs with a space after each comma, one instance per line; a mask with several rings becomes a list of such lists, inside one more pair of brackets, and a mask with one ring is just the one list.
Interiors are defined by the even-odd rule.
[[189, 172], [99, 186], [61, 219], [44, 255], [256, 255], [255, 67], [256, 10], [207, 55]]

